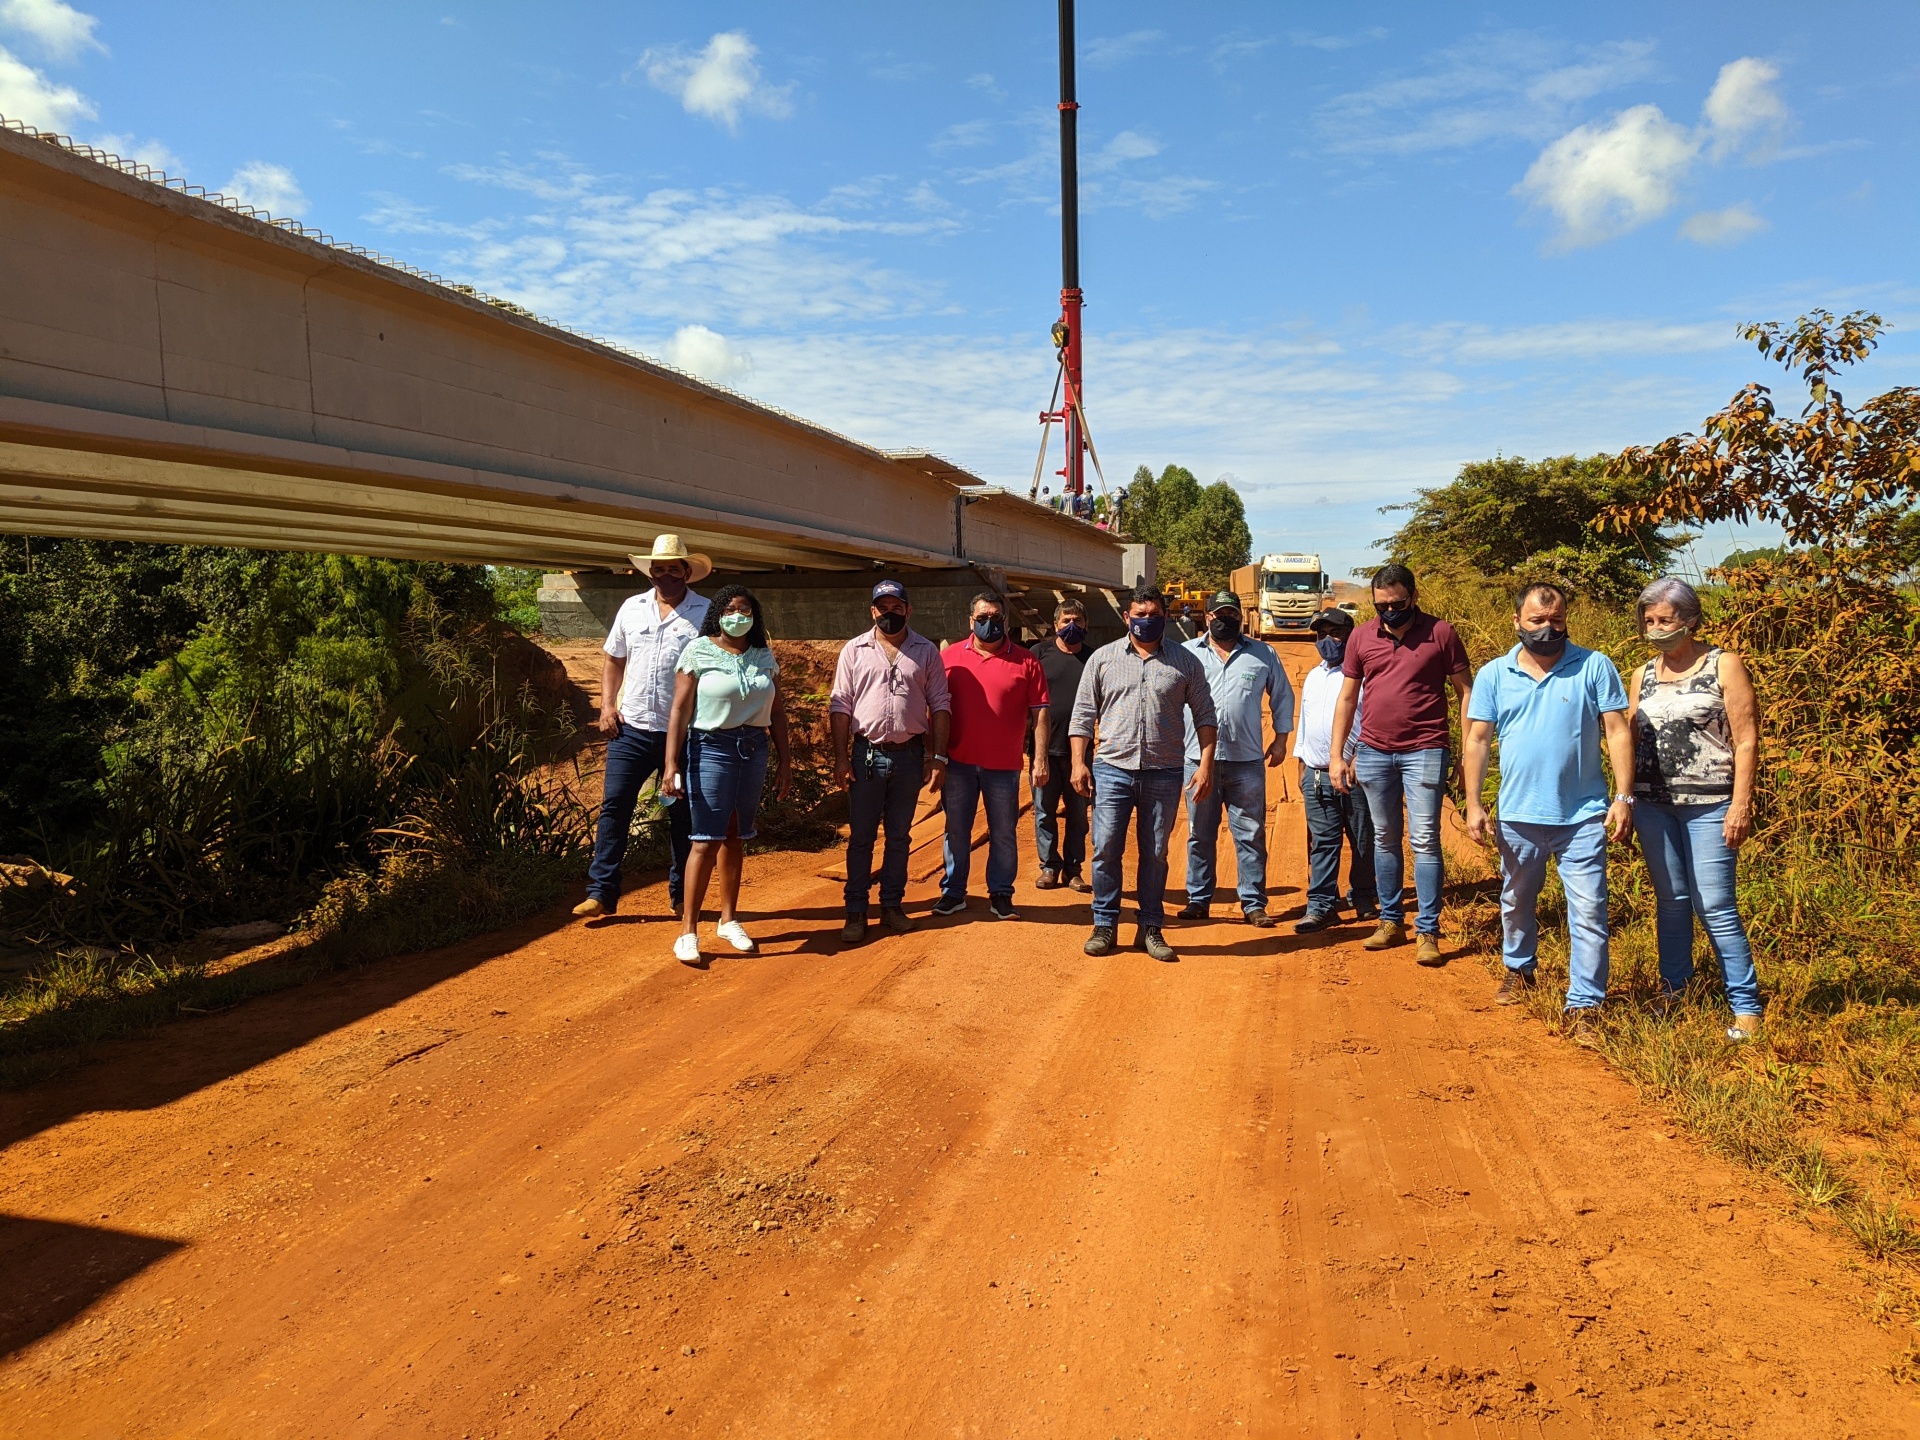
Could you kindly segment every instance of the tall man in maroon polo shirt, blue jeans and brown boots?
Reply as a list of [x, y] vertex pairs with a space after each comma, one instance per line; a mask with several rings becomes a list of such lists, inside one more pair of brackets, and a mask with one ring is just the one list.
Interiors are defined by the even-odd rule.
[[[1446, 860], [1440, 854], [1440, 801], [1448, 778], [1448, 685], [1467, 714], [1473, 682], [1467, 647], [1453, 626], [1425, 614], [1413, 589], [1413, 572], [1384, 564], [1373, 576], [1375, 620], [1354, 630], [1346, 643], [1340, 699], [1332, 714], [1332, 756], [1327, 772], [1334, 789], [1359, 783], [1373, 816], [1373, 879], [1380, 891], [1380, 927], [1363, 945], [1384, 950], [1404, 945], [1405, 876], [1400, 858], [1400, 806], [1405, 801], [1405, 835], [1413, 845], [1413, 889], [1419, 914], [1413, 922], [1415, 962], [1444, 966], [1440, 954], [1440, 891]], [[1346, 758], [1359, 687], [1367, 710], [1359, 747]]]

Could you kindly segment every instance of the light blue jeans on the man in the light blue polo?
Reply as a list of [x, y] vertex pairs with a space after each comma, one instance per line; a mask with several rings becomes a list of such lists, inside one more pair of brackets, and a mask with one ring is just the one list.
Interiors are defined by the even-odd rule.
[[1540, 954], [1540, 887], [1548, 856], [1559, 860], [1567, 893], [1567, 1008], [1582, 1010], [1607, 998], [1607, 820], [1578, 826], [1530, 826], [1501, 820], [1500, 929], [1507, 970], [1528, 970]]

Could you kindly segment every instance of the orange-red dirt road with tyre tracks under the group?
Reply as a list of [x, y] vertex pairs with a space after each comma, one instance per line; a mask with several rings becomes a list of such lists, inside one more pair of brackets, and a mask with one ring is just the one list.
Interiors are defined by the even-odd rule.
[[839, 950], [831, 860], [708, 973], [655, 885], [0, 1098], [0, 1434], [1920, 1434], [1843, 1252], [1478, 962], [1025, 885]]

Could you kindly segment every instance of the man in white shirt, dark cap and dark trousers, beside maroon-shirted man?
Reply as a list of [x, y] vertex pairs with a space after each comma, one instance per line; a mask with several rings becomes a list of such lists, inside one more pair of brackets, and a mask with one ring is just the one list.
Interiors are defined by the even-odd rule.
[[[1354, 634], [1354, 616], [1346, 611], [1321, 611], [1311, 622], [1313, 643], [1321, 662], [1300, 682], [1300, 732], [1294, 755], [1300, 758], [1300, 799], [1308, 812], [1308, 912], [1294, 922], [1296, 935], [1338, 924], [1340, 910], [1352, 906], [1356, 920], [1380, 914], [1380, 899], [1373, 885], [1373, 816], [1359, 789], [1338, 791], [1329, 778], [1332, 764], [1332, 712], [1340, 701], [1346, 676], [1346, 639]], [[1359, 705], [1365, 705], [1361, 697]], [[1346, 737], [1346, 760], [1359, 749], [1359, 708]], [[1348, 895], [1340, 895], [1340, 841], [1348, 843]]]

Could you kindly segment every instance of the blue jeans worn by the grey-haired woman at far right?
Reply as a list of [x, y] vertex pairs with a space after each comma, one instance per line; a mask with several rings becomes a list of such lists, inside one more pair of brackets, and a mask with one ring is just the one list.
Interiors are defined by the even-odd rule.
[[1720, 826], [1726, 806], [1655, 804], [1634, 806], [1634, 833], [1647, 856], [1653, 879], [1653, 927], [1661, 941], [1661, 979], [1678, 991], [1693, 979], [1693, 916], [1707, 927], [1713, 952], [1726, 979], [1726, 1002], [1736, 1016], [1761, 1014], [1761, 981], [1753, 972], [1753, 947], [1740, 924], [1740, 897], [1734, 891], [1738, 856], [1726, 849]]

